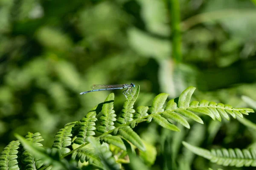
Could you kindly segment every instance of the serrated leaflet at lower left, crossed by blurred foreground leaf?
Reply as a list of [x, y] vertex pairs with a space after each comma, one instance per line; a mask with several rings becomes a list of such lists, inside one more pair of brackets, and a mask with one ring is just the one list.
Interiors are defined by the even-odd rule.
[[[34, 143], [38, 147], [42, 147], [43, 144], [39, 143], [41, 141], [44, 141], [40, 133], [30, 133], [28, 132], [25, 136], [27, 141], [30, 141]], [[22, 153], [22, 163], [25, 164], [26, 170], [37, 170], [39, 169], [44, 162], [40, 160], [39, 158], [36, 158], [32, 153], [30, 153], [28, 150], [25, 150]]]

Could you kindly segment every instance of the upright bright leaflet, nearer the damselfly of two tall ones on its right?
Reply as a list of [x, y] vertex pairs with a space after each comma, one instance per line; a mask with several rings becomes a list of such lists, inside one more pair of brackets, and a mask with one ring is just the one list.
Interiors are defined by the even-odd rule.
[[158, 94], [152, 102], [151, 108], [149, 109], [149, 112], [152, 113], [158, 113], [158, 112], [163, 112], [163, 104], [165, 103], [167, 97], [169, 94], [166, 93], [161, 93]]

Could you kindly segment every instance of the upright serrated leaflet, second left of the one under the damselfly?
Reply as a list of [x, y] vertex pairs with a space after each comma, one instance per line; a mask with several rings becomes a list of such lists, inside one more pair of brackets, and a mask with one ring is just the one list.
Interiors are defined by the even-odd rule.
[[94, 130], [96, 130], [95, 122], [98, 120], [96, 118], [96, 108], [95, 106], [91, 111], [87, 113], [87, 115], [82, 118], [79, 122], [79, 133], [77, 134], [77, 138], [74, 140], [76, 144], [83, 144], [87, 142], [87, 136], [95, 135]]

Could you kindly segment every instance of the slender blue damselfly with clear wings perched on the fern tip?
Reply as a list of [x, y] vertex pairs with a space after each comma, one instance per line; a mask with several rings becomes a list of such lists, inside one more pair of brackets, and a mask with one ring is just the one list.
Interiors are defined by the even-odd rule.
[[125, 88], [125, 90], [122, 92], [122, 94], [124, 94], [125, 98], [128, 99], [126, 94], [129, 94], [129, 92], [128, 92], [129, 90], [130, 90], [131, 96], [134, 97], [132, 95], [132, 88], [134, 88], [134, 87], [135, 87], [135, 85], [133, 83], [131, 83], [130, 85], [128, 85], [128, 84], [123, 84], [123, 85], [92, 85], [91, 89], [93, 89], [93, 90], [84, 91], [80, 94], [86, 94], [86, 93], [90, 93], [90, 92], [94, 92], [94, 91], [116, 90], [116, 89], [124, 89]]

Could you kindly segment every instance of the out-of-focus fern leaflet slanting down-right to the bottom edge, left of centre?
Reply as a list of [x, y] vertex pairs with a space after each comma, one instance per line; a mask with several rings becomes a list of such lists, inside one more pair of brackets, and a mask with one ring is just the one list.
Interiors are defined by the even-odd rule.
[[88, 141], [93, 145], [97, 155], [101, 159], [102, 164], [107, 170], [120, 170], [120, 164], [116, 163], [116, 160], [112, 156], [112, 152], [108, 149], [107, 146], [99, 144], [96, 139], [89, 137]]

